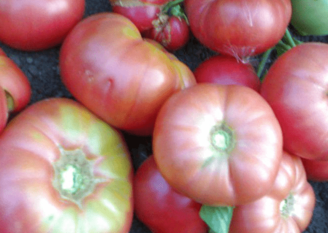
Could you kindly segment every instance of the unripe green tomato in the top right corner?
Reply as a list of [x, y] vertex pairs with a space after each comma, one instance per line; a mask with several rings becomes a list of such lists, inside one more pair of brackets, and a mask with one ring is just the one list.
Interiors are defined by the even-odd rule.
[[328, 1], [291, 0], [291, 24], [301, 35], [328, 34]]

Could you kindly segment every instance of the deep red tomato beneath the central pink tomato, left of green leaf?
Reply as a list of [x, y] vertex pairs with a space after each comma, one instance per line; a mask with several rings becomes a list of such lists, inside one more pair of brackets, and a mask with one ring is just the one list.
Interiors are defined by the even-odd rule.
[[199, 217], [201, 204], [182, 196], [161, 176], [154, 157], [138, 168], [133, 183], [134, 211], [153, 233], [206, 233]]

